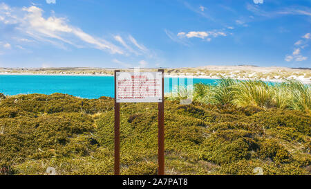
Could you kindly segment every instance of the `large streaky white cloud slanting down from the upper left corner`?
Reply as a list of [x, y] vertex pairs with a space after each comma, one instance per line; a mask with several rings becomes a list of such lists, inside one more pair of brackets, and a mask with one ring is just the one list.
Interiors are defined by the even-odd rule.
[[[41, 42], [49, 42], [59, 48], [66, 48], [64, 44], [70, 44], [78, 48], [87, 45], [109, 51], [112, 54], [124, 54], [117, 46], [104, 39], [93, 37], [80, 28], [70, 26], [68, 19], [64, 17], [51, 16], [45, 19], [41, 8], [30, 6], [29, 8], [10, 8], [5, 3], [1, 3], [0, 16], [4, 17], [5, 24], [17, 24], [16, 29], [23, 35], [28, 35]], [[78, 45], [84, 42], [84, 45]]]

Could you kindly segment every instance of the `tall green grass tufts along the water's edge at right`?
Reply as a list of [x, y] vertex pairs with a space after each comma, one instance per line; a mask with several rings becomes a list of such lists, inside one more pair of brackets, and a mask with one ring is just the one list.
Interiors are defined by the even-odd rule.
[[281, 83], [262, 80], [234, 80], [221, 78], [215, 84], [195, 84], [194, 87], [175, 87], [167, 95], [169, 100], [191, 98], [194, 102], [222, 107], [280, 108], [310, 114], [311, 89], [299, 80]]

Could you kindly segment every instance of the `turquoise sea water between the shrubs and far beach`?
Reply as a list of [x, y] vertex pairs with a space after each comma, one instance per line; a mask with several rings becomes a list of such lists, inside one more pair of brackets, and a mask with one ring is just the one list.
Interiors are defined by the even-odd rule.
[[[193, 84], [202, 82], [214, 84], [217, 80], [192, 80]], [[164, 93], [169, 93], [177, 85], [191, 84], [184, 78], [164, 78]], [[73, 75], [0, 75], [0, 93], [17, 94], [52, 94], [66, 93], [81, 98], [114, 97], [113, 76], [73, 76]]]

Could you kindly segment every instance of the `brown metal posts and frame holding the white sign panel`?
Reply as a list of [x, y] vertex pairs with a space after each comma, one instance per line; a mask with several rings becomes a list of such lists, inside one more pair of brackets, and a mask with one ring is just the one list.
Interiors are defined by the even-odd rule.
[[[162, 75], [162, 100], [158, 102], [158, 175], [164, 175], [164, 69], [158, 69]], [[115, 175], [120, 175], [120, 103], [117, 102], [117, 73], [115, 70]]]

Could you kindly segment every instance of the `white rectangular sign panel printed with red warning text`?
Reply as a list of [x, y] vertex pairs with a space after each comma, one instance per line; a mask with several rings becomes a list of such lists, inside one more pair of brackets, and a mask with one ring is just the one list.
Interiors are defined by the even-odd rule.
[[117, 72], [117, 102], [162, 102], [162, 72]]

